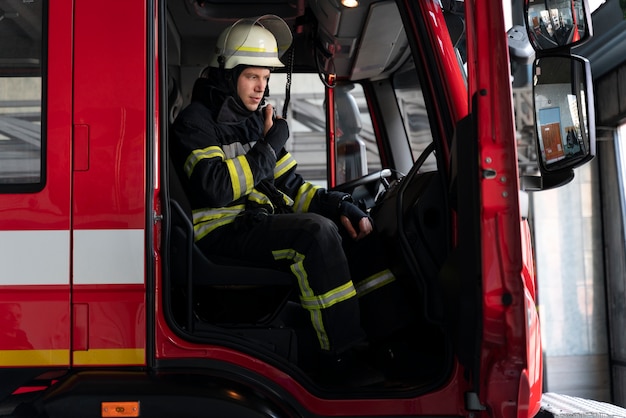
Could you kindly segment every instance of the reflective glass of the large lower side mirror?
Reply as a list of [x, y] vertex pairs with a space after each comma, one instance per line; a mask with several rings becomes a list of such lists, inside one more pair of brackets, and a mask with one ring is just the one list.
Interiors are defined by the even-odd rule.
[[574, 168], [595, 154], [591, 72], [582, 57], [535, 62], [537, 149], [542, 170]]

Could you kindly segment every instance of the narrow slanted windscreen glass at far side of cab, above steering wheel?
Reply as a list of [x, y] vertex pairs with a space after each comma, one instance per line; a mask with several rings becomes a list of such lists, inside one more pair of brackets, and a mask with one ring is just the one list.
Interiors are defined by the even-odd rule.
[[[424, 149], [433, 142], [422, 86], [413, 69], [397, 73], [392, 82], [404, 129], [411, 144], [413, 161], [415, 161]], [[437, 160], [434, 154], [430, 154], [420, 170], [437, 170]]]

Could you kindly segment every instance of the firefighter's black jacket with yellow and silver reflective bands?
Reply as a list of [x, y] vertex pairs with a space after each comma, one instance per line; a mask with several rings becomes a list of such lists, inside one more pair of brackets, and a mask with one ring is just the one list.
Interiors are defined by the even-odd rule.
[[296, 173], [295, 159], [264, 141], [263, 115], [200, 79], [192, 103], [172, 126], [174, 164], [186, 177], [198, 241], [243, 211], [315, 212], [337, 220], [345, 193]]

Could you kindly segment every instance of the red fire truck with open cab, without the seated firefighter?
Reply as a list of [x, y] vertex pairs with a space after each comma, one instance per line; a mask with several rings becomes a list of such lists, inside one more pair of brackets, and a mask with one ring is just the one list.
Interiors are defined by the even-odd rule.
[[[0, 414], [534, 416], [520, 190], [594, 153], [589, 65], [569, 51], [589, 9], [545, 3], [507, 33], [492, 0], [0, 0]], [[218, 34], [266, 14], [294, 37], [270, 95], [288, 150], [370, 211], [419, 312], [366, 353], [380, 384], [316, 379], [292, 278], [193, 242], [169, 127]], [[510, 58], [532, 67], [532, 176]]]

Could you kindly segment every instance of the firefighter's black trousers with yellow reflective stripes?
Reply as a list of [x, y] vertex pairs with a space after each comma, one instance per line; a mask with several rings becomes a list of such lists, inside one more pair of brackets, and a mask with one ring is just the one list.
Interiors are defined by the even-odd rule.
[[[408, 304], [398, 300], [402, 292], [387, 290], [392, 286], [386, 285], [395, 277], [380, 257], [377, 240], [368, 237], [354, 242], [345, 237], [332, 220], [318, 214], [256, 212], [242, 214], [234, 223], [202, 238], [198, 245], [208, 255], [290, 271], [320, 349], [340, 354], [371, 338], [368, 334], [382, 335], [397, 329], [411, 315]], [[353, 254], [350, 262], [346, 251]], [[357, 289], [367, 296], [357, 297]], [[363, 315], [360, 304], [366, 299], [369, 309]], [[367, 324], [362, 324], [364, 317]]]

